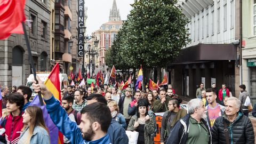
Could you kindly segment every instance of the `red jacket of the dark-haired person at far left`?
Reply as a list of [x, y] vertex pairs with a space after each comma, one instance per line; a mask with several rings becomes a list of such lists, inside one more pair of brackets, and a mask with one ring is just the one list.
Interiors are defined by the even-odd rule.
[[23, 127], [22, 123], [22, 114], [23, 112], [18, 116], [12, 116], [12, 114], [6, 116], [1, 123], [1, 126], [5, 128], [5, 140], [8, 143], [18, 143], [21, 129]]

